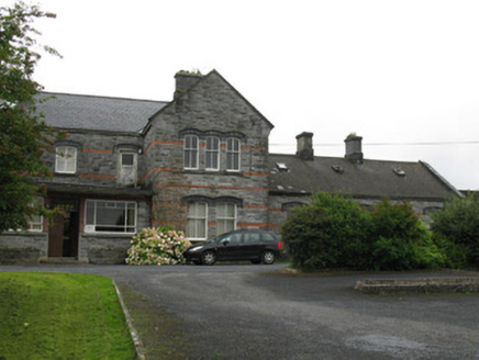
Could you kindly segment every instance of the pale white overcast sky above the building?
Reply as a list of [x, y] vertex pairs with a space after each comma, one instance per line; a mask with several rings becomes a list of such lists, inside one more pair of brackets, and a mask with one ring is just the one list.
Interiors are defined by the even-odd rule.
[[[12, 1], [10, 1], [12, 2]], [[272, 153], [433, 166], [479, 190], [479, 1], [40, 0], [47, 91], [169, 101], [216, 69], [274, 125]]]

